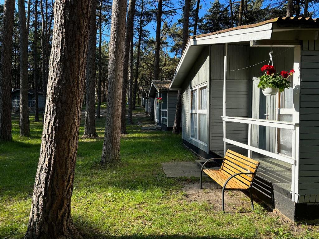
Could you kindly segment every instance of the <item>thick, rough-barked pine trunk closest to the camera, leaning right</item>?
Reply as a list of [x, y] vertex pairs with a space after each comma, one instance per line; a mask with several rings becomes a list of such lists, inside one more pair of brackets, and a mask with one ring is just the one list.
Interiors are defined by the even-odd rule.
[[25, 239], [80, 238], [71, 219], [89, 0], [56, 0], [46, 112]]

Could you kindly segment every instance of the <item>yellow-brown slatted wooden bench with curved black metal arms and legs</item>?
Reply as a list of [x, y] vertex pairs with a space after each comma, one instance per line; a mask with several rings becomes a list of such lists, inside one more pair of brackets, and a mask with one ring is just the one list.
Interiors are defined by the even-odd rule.
[[[223, 163], [220, 169], [204, 169], [206, 163], [215, 159], [223, 159]], [[251, 207], [254, 210], [254, 203], [251, 195], [251, 185], [256, 175], [258, 166], [259, 162], [257, 162], [256, 160], [253, 160], [249, 157], [243, 156], [228, 149], [224, 158], [211, 158], [203, 164], [200, 172], [200, 188], [202, 188], [202, 174], [204, 172], [223, 187], [223, 211], [225, 211], [225, 190], [248, 190]]]

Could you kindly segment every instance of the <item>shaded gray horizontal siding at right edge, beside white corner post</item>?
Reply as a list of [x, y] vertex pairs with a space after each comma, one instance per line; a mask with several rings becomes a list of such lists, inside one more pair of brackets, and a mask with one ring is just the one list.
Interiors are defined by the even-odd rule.
[[319, 199], [319, 41], [304, 41], [301, 51], [299, 194], [300, 202]]

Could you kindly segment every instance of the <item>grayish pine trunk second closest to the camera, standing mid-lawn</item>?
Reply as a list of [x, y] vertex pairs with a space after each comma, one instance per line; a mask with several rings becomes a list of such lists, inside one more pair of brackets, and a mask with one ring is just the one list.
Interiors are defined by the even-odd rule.
[[108, 60], [108, 99], [101, 164], [120, 163], [121, 101], [126, 0], [114, 0]]

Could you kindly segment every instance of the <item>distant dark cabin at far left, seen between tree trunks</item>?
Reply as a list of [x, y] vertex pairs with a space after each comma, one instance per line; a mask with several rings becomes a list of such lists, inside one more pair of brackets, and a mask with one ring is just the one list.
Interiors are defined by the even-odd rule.
[[[11, 91], [11, 105], [13, 110], [19, 109], [20, 106], [20, 89]], [[38, 91], [39, 110], [44, 108], [43, 92]], [[28, 107], [30, 111], [34, 110], [34, 90], [28, 90]]]

